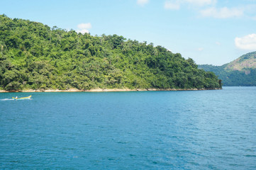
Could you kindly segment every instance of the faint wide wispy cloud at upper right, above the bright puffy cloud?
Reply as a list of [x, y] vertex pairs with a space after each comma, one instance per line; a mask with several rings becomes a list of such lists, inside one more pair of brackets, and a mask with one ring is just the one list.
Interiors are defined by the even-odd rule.
[[200, 11], [201, 16], [213, 18], [233, 18], [243, 16], [244, 10], [242, 8], [207, 8]]

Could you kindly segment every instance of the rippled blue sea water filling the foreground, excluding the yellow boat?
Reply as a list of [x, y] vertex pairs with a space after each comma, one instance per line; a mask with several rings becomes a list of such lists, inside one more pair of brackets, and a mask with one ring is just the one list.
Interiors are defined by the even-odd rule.
[[256, 87], [0, 94], [0, 169], [256, 169], [255, 96]]

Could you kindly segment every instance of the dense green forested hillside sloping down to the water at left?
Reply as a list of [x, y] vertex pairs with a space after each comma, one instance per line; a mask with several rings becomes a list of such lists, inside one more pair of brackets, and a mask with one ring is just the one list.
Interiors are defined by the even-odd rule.
[[0, 88], [215, 89], [213, 72], [161, 46], [0, 16]]

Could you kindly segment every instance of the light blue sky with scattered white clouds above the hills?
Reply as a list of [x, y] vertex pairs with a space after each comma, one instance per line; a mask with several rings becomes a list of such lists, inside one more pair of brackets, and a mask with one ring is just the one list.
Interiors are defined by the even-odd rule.
[[0, 14], [91, 35], [122, 35], [223, 65], [256, 51], [256, 0], [3, 0]]

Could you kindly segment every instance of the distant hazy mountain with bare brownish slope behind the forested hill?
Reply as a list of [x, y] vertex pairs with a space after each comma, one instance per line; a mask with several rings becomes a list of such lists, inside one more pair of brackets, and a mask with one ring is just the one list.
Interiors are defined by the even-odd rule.
[[256, 52], [242, 55], [222, 66], [202, 64], [199, 69], [214, 72], [222, 80], [223, 86], [256, 86]]

